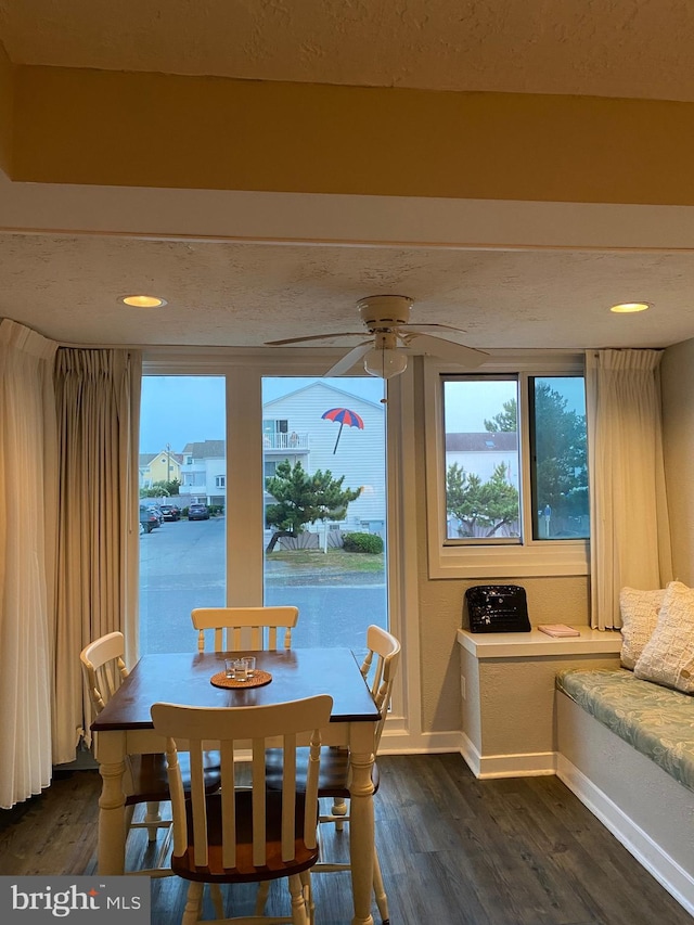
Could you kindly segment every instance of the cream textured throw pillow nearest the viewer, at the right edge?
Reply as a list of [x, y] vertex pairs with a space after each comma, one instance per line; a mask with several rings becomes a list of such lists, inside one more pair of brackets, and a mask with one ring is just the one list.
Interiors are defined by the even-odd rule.
[[644, 681], [694, 693], [694, 588], [670, 581], [665, 589], [658, 622], [633, 673]]

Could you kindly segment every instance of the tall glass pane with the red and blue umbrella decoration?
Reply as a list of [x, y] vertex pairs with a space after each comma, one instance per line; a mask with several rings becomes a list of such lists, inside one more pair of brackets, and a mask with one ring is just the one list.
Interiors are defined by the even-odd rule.
[[297, 646], [355, 648], [388, 627], [383, 388], [262, 377], [265, 414], [282, 415], [262, 421], [264, 600], [299, 607]]

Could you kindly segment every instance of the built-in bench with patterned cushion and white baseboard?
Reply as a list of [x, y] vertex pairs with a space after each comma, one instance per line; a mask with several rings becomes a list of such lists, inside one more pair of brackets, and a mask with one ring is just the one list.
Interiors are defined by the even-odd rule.
[[557, 774], [694, 914], [694, 698], [624, 668], [556, 677]]

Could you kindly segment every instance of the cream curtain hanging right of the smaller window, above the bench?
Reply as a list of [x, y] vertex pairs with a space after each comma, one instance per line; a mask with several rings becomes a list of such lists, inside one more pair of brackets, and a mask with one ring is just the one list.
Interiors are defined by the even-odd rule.
[[621, 626], [622, 587], [672, 578], [658, 350], [586, 355], [591, 485], [591, 625]]

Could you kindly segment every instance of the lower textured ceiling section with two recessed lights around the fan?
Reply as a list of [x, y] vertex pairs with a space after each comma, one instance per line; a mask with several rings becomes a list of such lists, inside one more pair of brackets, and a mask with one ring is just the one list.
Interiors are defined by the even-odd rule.
[[[461, 339], [473, 347], [665, 346], [694, 336], [694, 254], [143, 246], [107, 236], [0, 235], [0, 301], [13, 317], [83, 344], [243, 347], [358, 332], [356, 303], [373, 293], [411, 296], [413, 322], [463, 327]], [[116, 297], [132, 292], [133, 281], [136, 291], [154, 290], [169, 304], [125, 308]], [[656, 294], [653, 310], [608, 311], [644, 293]]]

